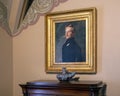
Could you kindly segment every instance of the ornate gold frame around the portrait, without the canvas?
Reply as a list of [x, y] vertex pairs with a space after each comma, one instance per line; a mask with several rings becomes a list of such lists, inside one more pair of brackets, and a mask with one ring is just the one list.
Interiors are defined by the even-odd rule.
[[[56, 62], [56, 23], [85, 20], [86, 22], [86, 60], [85, 62]], [[82, 74], [97, 72], [97, 11], [96, 8], [48, 13], [45, 16], [46, 30], [46, 72], [58, 73], [62, 67]]]

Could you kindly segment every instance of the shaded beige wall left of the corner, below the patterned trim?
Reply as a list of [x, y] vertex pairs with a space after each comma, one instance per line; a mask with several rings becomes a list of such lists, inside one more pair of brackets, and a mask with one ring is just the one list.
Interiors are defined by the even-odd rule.
[[0, 28], [0, 96], [13, 96], [12, 37]]

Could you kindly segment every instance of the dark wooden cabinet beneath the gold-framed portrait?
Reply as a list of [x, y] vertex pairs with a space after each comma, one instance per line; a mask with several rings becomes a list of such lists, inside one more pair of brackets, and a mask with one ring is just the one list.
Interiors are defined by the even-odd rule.
[[101, 81], [33, 81], [20, 86], [23, 96], [106, 96]]

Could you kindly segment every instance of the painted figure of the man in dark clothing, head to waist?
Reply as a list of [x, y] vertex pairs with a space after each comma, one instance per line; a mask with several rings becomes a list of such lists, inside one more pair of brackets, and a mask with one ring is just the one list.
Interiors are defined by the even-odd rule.
[[74, 38], [74, 27], [69, 24], [65, 27], [66, 41], [62, 46], [62, 62], [80, 62], [81, 49]]

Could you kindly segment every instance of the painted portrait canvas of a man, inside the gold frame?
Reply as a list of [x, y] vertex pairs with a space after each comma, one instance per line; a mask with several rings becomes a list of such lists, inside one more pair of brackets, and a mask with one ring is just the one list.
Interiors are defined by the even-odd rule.
[[57, 23], [55, 61], [84, 62], [86, 60], [85, 41], [84, 20]]

